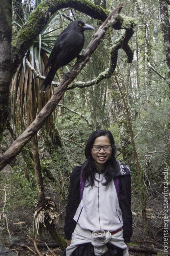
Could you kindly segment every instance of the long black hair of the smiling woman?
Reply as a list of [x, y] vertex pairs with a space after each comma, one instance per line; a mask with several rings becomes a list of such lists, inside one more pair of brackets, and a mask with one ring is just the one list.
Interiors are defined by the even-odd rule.
[[90, 137], [87, 140], [87, 144], [85, 147], [85, 157], [87, 158], [87, 161], [84, 162], [82, 167], [82, 170], [83, 170], [82, 177], [84, 181], [88, 181], [88, 186], [94, 185], [94, 179], [95, 179], [95, 173], [96, 173], [94, 159], [91, 155], [91, 147], [94, 144], [95, 139], [100, 136], [107, 136], [109, 138], [110, 145], [112, 147], [111, 157], [107, 161], [107, 168], [105, 170], [106, 182], [104, 182], [102, 185], [104, 186], [108, 185], [109, 181], [111, 181], [114, 178], [115, 172], [113, 172], [113, 170], [117, 169], [117, 162], [115, 158], [116, 146], [114, 144], [113, 135], [108, 130], [96, 130], [90, 135]]

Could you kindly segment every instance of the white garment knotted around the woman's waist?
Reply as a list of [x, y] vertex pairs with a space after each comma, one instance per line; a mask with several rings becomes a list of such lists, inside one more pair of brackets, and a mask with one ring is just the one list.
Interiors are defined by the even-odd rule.
[[88, 229], [83, 229], [77, 223], [74, 233], [72, 233], [71, 244], [66, 248], [66, 256], [71, 256], [78, 245], [91, 243], [94, 246], [94, 254], [103, 255], [108, 251], [106, 244], [109, 242], [121, 249], [124, 249], [123, 256], [129, 256], [127, 246], [123, 239], [123, 230], [111, 235], [109, 231], [96, 230], [91, 233]]

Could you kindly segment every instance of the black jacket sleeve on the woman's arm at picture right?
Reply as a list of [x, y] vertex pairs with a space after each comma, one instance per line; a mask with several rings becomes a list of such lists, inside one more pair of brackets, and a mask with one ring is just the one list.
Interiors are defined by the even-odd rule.
[[131, 211], [131, 176], [123, 175], [120, 177], [120, 197], [119, 206], [123, 218], [123, 238], [129, 242], [132, 237], [132, 211]]

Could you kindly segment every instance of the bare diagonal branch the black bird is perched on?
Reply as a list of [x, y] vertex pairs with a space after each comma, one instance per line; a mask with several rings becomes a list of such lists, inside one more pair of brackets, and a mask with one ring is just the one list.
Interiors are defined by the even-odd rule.
[[54, 92], [51, 99], [47, 102], [44, 108], [39, 112], [36, 119], [12, 143], [12, 145], [8, 148], [8, 150], [0, 156], [0, 170], [2, 170], [9, 163], [9, 161], [11, 161], [17, 154], [19, 154], [19, 152], [24, 147], [24, 145], [30, 141], [30, 139], [37, 133], [37, 131], [45, 123], [45, 120], [47, 119], [47, 117], [53, 112], [53, 110], [56, 108], [56, 105], [59, 103], [59, 101], [63, 97], [64, 92], [67, 89], [68, 85], [76, 78], [79, 72], [84, 68], [90, 56], [102, 41], [102, 38], [104, 37], [108, 27], [116, 23], [118, 14], [121, 11], [124, 4], [125, 2], [120, 2], [119, 5], [107, 17], [105, 22], [100, 26], [98, 31], [94, 34], [86, 50], [83, 52], [82, 58], [79, 58], [79, 60], [76, 62], [74, 67], [71, 69], [71, 71], [67, 73], [67, 78], [65, 77], [61, 81], [60, 86]]

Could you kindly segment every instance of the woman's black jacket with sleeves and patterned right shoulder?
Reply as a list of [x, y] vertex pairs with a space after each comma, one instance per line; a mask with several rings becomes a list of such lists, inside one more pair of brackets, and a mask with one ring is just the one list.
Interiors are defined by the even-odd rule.
[[[131, 212], [131, 171], [129, 166], [117, 161], [118, 168], [115, 177], [119, 178], [119, 206], [123, 218], [123, 238], [129, 242], [132, 237], [132, 212]], [[65, 238], [71, 239], [76, 222], [73, 219], [80, 204], [80, 174], [82, 167], [76, 166], [70, 175], [70, 190], [66, 208], [64, 232]]]

